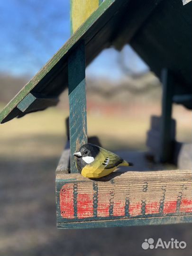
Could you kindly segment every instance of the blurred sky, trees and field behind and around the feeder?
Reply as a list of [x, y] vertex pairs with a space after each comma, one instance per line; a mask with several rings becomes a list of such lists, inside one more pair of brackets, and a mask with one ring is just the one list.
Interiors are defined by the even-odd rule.
[[[69, 0], [0, 1], [0, 110], [70, 37]], [[86, 69], [88, 135], [103, 147], [145, 152], [161, 83], [130, 46], [109, 48]], [[0, 125], [0, 256], [145, 256], [145, 238], [172, 237], [188, 256], [192, 226], [56, 229], [55, 168], [66, 142], [68, 92], [55, 108]], [[191, 142], [191, 111], [174, 105], [178, 141]], [[159, 166], [159, 168], [162, 168]], [[176, 168], [167, 166], [167, 168]], [[150, 254], [151, 253], [151, 254]]]

